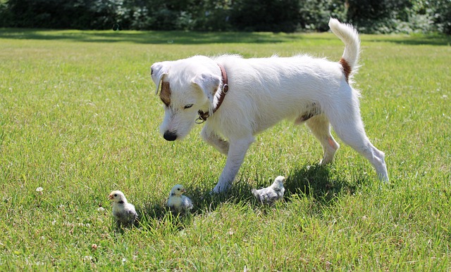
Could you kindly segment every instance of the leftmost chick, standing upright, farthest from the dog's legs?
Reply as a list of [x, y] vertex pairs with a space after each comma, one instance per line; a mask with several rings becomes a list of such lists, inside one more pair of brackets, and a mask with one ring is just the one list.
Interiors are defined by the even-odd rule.
[[132, 226], [138, 218], [135, 206], [127, 202], [127, 198], [120, 190], [113, 190], [108, 196], [113, 201], [113, 216], [116, 226]]

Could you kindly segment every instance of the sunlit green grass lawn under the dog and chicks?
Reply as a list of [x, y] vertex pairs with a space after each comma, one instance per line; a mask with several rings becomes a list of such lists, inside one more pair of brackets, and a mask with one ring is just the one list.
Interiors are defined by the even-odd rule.
[[[287, 121], [257, 136], [230, 193], [211, 196], [226, 158], [202, 125], [181, 142], [159, 135], [150, 65], [226, 52], [338, 60], [340, 40], [0, 30], [0, 271], [449, 271], [450, 41], [362, 36], [356, 86], [390, 184], [344, 144], [316, 166], [319, 143]], [[260, 207], [250, 188], [279, 174], [285, 201]], [[194, 200], [186, 218], [164, 209], [175, 183]], [[111, 190], [136, 205], [139, 228], [114, 231]]]

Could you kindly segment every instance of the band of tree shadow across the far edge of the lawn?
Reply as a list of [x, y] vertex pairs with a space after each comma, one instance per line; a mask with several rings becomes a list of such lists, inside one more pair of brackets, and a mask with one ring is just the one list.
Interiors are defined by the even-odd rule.
[[[274, 44], [299, 39], [336, 40], [323, 34], [271, 32], [185, 32], [185, 31], [120, 31], [113, 30], [38, 30], [20, 28], [0, 29], [0, 39], [67, 40], [75, 42], [128, 42], [135, 44]], [[450, 46], [451, 37], [425, 34], [401, 37], [399, 35], [362, 35], [362, 41], [391, 42], [405, 45]]]

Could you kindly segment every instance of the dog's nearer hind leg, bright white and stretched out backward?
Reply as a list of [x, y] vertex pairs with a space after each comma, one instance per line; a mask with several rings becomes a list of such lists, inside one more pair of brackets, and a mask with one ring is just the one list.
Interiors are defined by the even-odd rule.
[[358, 103], [356, 105], [341, 105], [339, 110], [335, 109], [329, 119], [338, 137], [373, 164], [381, 181], [388, 181], [385, 154], [374, 147], [366, 136]]

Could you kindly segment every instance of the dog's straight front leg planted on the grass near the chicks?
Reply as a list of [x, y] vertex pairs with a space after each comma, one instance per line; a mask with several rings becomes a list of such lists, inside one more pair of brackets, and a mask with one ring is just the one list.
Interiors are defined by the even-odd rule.
[[246, 152], [253, 142], [253, 136], [233, 141], [230, 140], [226, 166], [224, 167], [221, 176], [219, 176], [218, 184], [214, 187], [213, 193], [223, 193], [230, 189], [238, 170], [240, 170], [242, 161], [245, 159]]

